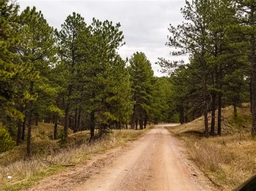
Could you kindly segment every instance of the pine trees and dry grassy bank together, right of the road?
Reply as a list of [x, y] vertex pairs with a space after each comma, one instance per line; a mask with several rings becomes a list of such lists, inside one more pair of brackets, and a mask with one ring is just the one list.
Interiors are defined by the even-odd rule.
[[181, 14], [166, 46], [189, 61], [158, 62], [170, 74], [181, 123], [170, 131], [216, 185], [231, 190], [256, 174], [256, 2], [186, 1]]

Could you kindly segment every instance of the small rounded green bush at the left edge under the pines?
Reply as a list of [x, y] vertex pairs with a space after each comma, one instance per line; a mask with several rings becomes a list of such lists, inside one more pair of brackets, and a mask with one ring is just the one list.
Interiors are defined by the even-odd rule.
[[12, 140], [10, 133], [4, 129], [0, 129], [0, 152], [8, 151], [15, 146], [14, 140]]

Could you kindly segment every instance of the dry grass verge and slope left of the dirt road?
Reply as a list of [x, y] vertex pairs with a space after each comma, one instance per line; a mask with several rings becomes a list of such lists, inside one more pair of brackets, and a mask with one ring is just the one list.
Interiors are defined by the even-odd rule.
[[[40, 124], [41, 132], [44, 130], [49, 132], [48, 125], [50, 124]], [[149, 128], [147, 126], [142, 131], [112, 130], [111, 133], [96, 139], [94, 142], [90, 142], [90, 131], [78, 132], [69, 136], [68, 145], [63, 148], [60, 139], [37, 138], [33, 141], [33, 157], [30, 160], [24, 160], [26, 147], [19, 145], [0, 154], [0, 187], [6, 190], [28, 188], [36, 181], [62, 169], [76, 164], [85, 164], [86, 160], [95, 154], [103, 153], [110, 148], [122, 146], [135, 140]], [[34, 133], [34, 135], [37, 134]], [[11, 180], [8, 180], [8, 174], [12, 176]]]

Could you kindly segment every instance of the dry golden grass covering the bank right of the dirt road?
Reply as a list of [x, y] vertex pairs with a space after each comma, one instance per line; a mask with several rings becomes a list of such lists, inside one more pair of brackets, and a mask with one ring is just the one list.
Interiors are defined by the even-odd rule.
[[[208, 178], [220, 189], [232, 190], [256, 174], [256, 140], [248, 132], [250, 129], [241, 130], [239, 125], [235, 125], [231, 107], [224, 111], [224, 128], [228, 131], [222, 137], [201, 137], [204, 126], [200, 118], [169, 129], [184, 140], [191, 159]], [[245, 117], [242, 124], [250, 122], [247, 109], [239, 108], [239, 115]]]

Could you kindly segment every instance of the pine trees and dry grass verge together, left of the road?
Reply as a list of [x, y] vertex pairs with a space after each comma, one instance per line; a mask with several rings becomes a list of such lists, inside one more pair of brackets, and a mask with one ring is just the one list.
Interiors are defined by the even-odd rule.
[[0, 27], [0, 188], [25, 188], [170, 121], [169, 78], [142, 52], [121, 58], [119, 23], [73, 12], [57, 30], [36, 7], [3, 0]]

